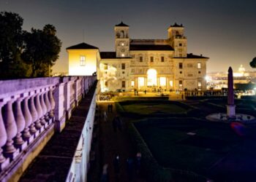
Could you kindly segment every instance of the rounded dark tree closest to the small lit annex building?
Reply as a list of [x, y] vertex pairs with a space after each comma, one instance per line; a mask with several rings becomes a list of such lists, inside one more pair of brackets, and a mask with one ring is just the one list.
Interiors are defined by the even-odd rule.
[[50, 67], [61, 51], [56, 28], [53, 25], [45, 25], [42, 30], [31, 28], [31, 33], [24, 33], [24, 42], [22, 58], [31, 65], [31, 76], [49, 76]]

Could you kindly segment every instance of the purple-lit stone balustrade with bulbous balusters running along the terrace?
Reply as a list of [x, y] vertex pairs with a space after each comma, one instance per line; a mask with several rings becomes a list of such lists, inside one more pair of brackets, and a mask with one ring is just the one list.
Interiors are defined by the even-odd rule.
[[18, 181], [96, 76], [0, 81], [0, 181]]

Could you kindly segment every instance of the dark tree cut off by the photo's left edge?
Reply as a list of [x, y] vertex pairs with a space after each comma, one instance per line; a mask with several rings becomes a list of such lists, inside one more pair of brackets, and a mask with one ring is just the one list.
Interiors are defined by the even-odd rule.
[[0, 79], [26, 76], [29, 66], [20, 55], [23, 50], [23, 18], [16, 13], [0, 12]]

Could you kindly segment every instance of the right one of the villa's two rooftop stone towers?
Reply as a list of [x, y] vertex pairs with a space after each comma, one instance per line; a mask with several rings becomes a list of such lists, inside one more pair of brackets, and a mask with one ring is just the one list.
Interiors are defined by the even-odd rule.
[[170, 25], [168, 28], [168, 39], [170, 40], [170, 46], [174, 49], [175, 58], [186, 58], [187, 57], [187, 37], [184, 36], [184, 26]]

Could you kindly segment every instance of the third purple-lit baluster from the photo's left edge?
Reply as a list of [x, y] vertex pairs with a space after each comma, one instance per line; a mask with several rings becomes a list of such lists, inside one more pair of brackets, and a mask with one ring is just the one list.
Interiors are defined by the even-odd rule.
[[21, 106], [20, 103], [23, 99], [18, 98], [15, 102], [15, 107], [14, 107], [14, 116], [15, 116], [15, 121], [17, 125], [17, 135], [15, 137], [15, 146], [21, 150], [23, 150], [26, 147], [26, 143], [24, 143], [23, 139], [21, 138], [21, 132], [25, 128], [25, 119], [23, 117], [22, 111], [21, 111]]

